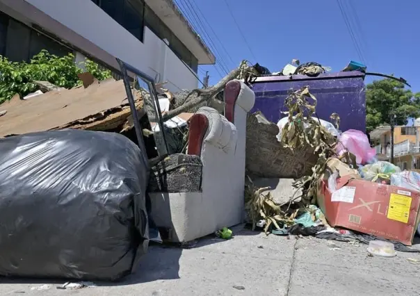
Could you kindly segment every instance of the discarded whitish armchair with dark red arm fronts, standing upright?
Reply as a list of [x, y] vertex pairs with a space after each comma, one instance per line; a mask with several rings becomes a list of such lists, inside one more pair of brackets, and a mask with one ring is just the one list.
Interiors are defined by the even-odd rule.
[[202, 107], [191, 117], [187, 154], [168, 160], [176, 181], [168, 176], [164, 190], [150, 192], [152, 217], [163, 238], [188, 242], [241, 223], [246, 118], [254, 103], [255, 94], [245, 83], [229, 81], [225, 116]]

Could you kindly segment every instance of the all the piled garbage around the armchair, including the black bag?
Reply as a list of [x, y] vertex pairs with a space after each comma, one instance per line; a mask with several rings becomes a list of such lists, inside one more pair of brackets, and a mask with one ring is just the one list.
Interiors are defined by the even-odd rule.
[[[282, 75], [317, 76], [328, 70], [316, 63], [293, 63]], [[3, 139], [1, 148], [6, 161], [0, 164], [0, 224], [7, 231], [0, 233], [5, 254], [0, 274], [116, 280], [131, 273], [154, 239], [148, 196], [201, 190], [204, 164], [200, 156], [184, 154], [188, 119], [201, 106], [222, 113], [224, 103], [218, 98], [232, 79], [248, 83], [267, 74], [265, 67], [243, 61], [211, 88], [175, 94], [158, 88], [162, 114], [154, 118], [157, 122], [151, 116], [157, 110], [147, 110], [156, 103], [152, 92], [133, 89], [142, 127], [148, 124], [143, 128], [145, 151], [131, 141], [136, 113], [125, 102], [122, 81], [91, 81], [83, 88], [33, 94], [27, 101], [15, 98], [7, 112], [0, 112], [3, 136], [16, 135]], [[100, 104], [95, 97], [102, 97]], [[37, 100], [51, 104], [38, 106]], [[395, 249], [414, 252], [406, 245], [420, 220], [420, 174], [376, 161], [364, 133], [339, 131], [337, 113], [331, 114], [332, 123], [319, 119], [309, 88], [292, 91], [285, 104], [287, 117], [277, 124], [262, 113], [247, 120], [245, 209], [252, 229], [364, 243], [381, 238]], [[37, 108], [43, 111], [36, 114], [45, 115], [38, 122], [11, 120], [19, 112], [22, 118], [35, 114]], [[54, 117], [42, 120], [50, 113]], [[38, 133], [29, 133], [31, 125]], [[65, 131], [54, 131], [60, 129]], [[170, 156], [154, 163], [149, 154], [156, 150], [157, 137], [149, 136], [165, 129]], [[278, 203], [270, 188], [255, 186], [252, 180], [258, 176], [293, 179], [295, 193]], [[232, 231], [224, 227], [217, 235], [229, 239]], [[27, 245], [35, 247], [27, 252]], [[91, 249], [95, 252], [86, 252]], [[83, 285], [89, 286], [76, 286]]]

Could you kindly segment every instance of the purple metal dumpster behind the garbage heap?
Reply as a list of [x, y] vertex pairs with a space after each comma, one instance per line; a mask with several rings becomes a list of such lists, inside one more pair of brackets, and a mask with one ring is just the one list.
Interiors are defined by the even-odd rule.
[[309, 86], [318, 103], [316, 113], [322, 120], [330, 122], [330, 115], [340, 116], [340, 130], [366, 130], [366, 97], [362, 72], [339, 72], [321, 74], [317, 77], [305, 75], [263, 76], [253, 83], [255, 105], [251, 113], [261, 111], [267, 120], [277, 122], [287, 111], [284, 106], [289, 90]]

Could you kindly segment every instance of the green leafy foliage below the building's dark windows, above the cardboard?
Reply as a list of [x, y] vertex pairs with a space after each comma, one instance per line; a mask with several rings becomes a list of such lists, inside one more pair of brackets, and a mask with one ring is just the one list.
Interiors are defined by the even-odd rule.
[[[111, 77], [111, 71], [99, 69], [99, 65], [92, 60], [86, 60], [84, 66], [98, 80]], [[49, 81], [62, 88], [74, 88], [81, 84], [77, 74], [82, 72], [74, 63], [73, 54], [60, 58], [42, 50], [29, 63], [10, 62], [0, 56], [0, 104], [15, 94], [24, 97], [38, 90], [38, 85], [33, 81]]]

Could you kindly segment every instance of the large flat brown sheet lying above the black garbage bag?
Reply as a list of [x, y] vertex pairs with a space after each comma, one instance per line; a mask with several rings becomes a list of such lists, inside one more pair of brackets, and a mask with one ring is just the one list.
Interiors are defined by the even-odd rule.
[[[136, 104], [143, 106], [136, 94]], [[123, 81], [108, 79], [71, 90], [51, 90], [28, 100], [1, 104], [0, 137], [51, 129], [107, 131], [122, 126], [131, 111]]]

